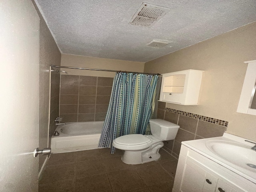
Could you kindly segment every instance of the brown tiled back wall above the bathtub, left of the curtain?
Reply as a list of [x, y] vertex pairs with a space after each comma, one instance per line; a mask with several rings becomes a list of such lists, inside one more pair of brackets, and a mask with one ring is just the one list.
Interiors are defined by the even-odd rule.
[[105, 120], [113, 78], [61, 75], [60, 116], [62, 122]]

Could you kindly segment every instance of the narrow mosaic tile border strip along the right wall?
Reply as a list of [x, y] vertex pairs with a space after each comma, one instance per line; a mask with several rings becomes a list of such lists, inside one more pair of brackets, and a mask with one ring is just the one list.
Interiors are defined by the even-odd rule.
[[217, 125], [221, 125], [224, 127], [228, 126], [228, 122], [224, 121], [224, 120], [219, 120], [219, 119], [215, 119], [215, 118], [211, 118], [211, 117], [206, 117], [206, 116], [202, 116], [202, 115], [197, 115], [194, 113], [188, 113], [188, 112], [184, 112], [184, 111], [180, 111], [180, 110], [176, 110], [176, 109], [171, 109], [171, 108], [165, 108], [166, 111], [171, 112], [171, 113], [176, 113], [176, 114], [180, 114], [180, 115], [184, 115], [184, 116], [188, 116], [194, 119], [199, 119], [202, 121], [206, 121], [206, 122], [210, 122], [213, 124], [217, 124]]

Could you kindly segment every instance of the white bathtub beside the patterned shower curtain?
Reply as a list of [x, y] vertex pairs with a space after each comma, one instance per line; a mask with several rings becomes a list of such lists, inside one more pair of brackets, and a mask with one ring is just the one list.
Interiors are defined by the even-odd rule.
[[98, 148], [104, 121], [75, 122], [58, 125], [59, 136], [52, 136], [52, 153], [64, 153]]

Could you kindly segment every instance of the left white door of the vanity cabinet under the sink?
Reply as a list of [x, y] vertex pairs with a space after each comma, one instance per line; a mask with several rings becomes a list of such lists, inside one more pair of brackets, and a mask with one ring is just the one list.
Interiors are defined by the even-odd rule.
[[[202, 192], [205, 176], [205, 170], [192, 163], [190, 160], [186, 160], [180, 192]], [[214, 190], [212, 190], [212, 192], [214, 192]]]

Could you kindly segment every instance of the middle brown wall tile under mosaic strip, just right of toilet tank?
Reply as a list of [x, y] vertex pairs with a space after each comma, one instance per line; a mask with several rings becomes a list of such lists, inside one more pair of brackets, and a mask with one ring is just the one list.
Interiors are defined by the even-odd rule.
[[178, 125], [180, 128], [192, 133], [196, 133], [198, 119], [180, 115]]

